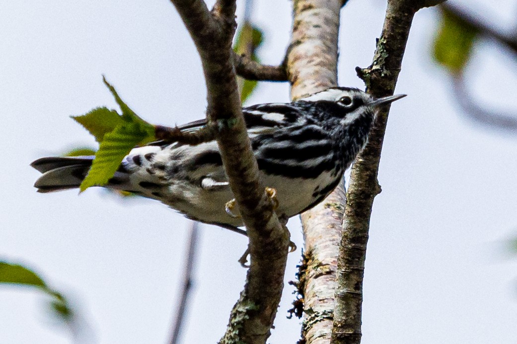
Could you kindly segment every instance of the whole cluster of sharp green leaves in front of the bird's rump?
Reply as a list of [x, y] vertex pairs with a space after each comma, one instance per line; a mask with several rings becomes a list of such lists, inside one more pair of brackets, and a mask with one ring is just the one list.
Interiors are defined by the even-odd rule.
[[[134, 113], [129, 106], [118, 96], [115, 88], [102, 77], [104, 84], [115, 97], [115, 101], [122, 110], [119, 116], [116, 111], [117, 119], [110, 117], [108, 124], [102, 124], [103, 117], [99, 111], [90, 111], [85, 116], [88, 117], [88, 125], [85, 127], [96, 138], [100, 138], [99, 150], [95, 153], [92, 167], [88, 171], [86, 178], [81, 183], [80, 190], [83, 192], [90, 186], [102, 186], [108, 183], [117, 171], [122, 159], [136, 146], [143, 145], [155, 140], [155, 127]], [[103, 112], [106, 115], [106, 112]], [[112, 114], [108, 114], [112, 116]], [[75, 119], [75, 118], [74, 118]], [[84, 120], [84, 118], [82, 118]], [[76, 119], [77, 120], [77, 119]], [[80, 122], [81, 123], [81, 122]], [[82, 124], [82, 123], [81, 123]], [[113, 126], [115, 124], [115, 126]], [[94, 130], [92, 130], [94, 128]], [[97, 133], [96, 134], [94, 134]], [[102, 134], [102, 137], [100, 137]]]

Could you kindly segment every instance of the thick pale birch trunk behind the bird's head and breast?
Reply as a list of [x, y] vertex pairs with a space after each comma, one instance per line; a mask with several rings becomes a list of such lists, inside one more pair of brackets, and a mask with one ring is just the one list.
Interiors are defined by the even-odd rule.
[[[338, 29], [341, 0], [294, 1], [293, 35], [287, 50], [291, 96], [298, 99], [337, 86]], [[345, 192], [342, 183], [325, 201], [301, 215], [309, 257], [303, 289], [302, 337], [328, 343], [334, 309], [335, 273]]]

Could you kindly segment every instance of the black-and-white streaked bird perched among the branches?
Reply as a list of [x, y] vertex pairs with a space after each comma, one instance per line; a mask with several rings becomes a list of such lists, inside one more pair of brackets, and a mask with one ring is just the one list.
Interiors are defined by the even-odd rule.
[[[353, 88], [330, 88], [292, 103], [242, 109], [264, 185], [277, 190], [279, 214], [300, 214], [321, 202], [367, 141], [379, 105], [403, 95], [373, 99]], [[180, 126], [192, 132], [204, 120]], [[43, 173], [39, 192], [77, 188], [91, 157], [48, 157], [32, 163]], [[233, 199], [215, 141], [133, 149], [107, 188], [138, 193], [205, 223], [241, 226], [225, 211]]]

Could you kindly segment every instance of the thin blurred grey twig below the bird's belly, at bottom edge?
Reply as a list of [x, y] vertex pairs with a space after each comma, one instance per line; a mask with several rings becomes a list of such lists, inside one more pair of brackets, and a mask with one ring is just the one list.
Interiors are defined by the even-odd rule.
[[185, 319], [187, 303], [191, 299], [190, 292], [192, 290], [192, 276], [194, 274], [194, 268], [196, 263], [197, 254], [197, 241], [199, 238], [199, 223], [192, 221], [190, 227], [190, 236], [187, 246], [187, 255], [185, 257], [184, 270], [183, 270], [183, 282], [181, 289], [181, 296], [179, 298], [178, 308], [176, 309], [176, 317], [172, 327], [171, 344], [177, 344], [179, 342], [179, 335], [183, 329], [183, 320]]

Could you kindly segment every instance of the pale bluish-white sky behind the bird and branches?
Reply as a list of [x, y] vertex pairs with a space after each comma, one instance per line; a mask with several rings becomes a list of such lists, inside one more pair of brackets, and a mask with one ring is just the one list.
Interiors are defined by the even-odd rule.
[[[281, 61], [291, 2], [256, 1], [252, 17], [266, 63]], [[501, 29], [517, 6], [457, 1]], [[242, 17], [238, 1], [238, 17]], [[385, 12], [381, 0], [342, 10], [339, 82], [363, 88]], [[88, 343], [164, 343], [177, 304], [189, 221], [156, 201], [121, 202], [100, 189], [38, 194], [31, 161], [94, 140], [68, 116], [115, 107], [101, 75], [144, 119], [165, 125], [204, 117], [199, 58], [166, 0], [4, 0], [0, 3], [0, 260], [39, 272], [78, 307]], [[391, 107], [366, 260], [363, 343], [515, 343], [517, 136], [465, 119], [447, 74], [430, 59], [436, 10], [417, 13]], [[469, 65], [479, 102], [517, 108], [517, 63], [483, 42]], [[262, 83], [248, 104], [288, 102], [287, 84]], [[517, 115], [516, 115], [517, 116]], [[302, 247], [299, 220], [289, 223]], [[214, 343], [245, 281], [246, 239], [203, 225], [184, 343]], [[290, 254], [294, 279], [301, 250]], [[286, 286], [271, 343], [294, 343], [298, 319]], [[70, 343], [39, 292], [0, 286], [0, 344]]]

